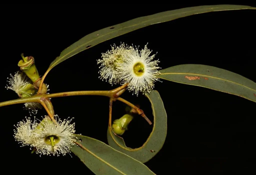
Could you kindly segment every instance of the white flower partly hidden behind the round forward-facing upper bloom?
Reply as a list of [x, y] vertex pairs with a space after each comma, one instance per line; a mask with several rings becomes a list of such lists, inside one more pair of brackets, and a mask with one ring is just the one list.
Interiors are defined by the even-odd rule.
[[125, 52], [129, 49], [127, 45], [124, 45], [124, 43], [121, 43], [120, 46], [116, 47], [114, 44], [114, 47], [111, 46], [111, 50], [107, 51], [106, 53], [102, 53], [101, 58], [97, 60], [98, 64], [101, 64], [99, 68], [100, 76], [99, 78], [102, 79], [102, 81], [105, 79], [108, 80], [110, 84], [116, 84], [119, 83], [119, 76], [116, 72], [116, 63], [122, 62], [123, 55]]

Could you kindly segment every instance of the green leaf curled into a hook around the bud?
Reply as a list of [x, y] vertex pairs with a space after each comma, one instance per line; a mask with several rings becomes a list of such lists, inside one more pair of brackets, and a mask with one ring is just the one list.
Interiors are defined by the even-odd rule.
[[167, 134], [167, 115], [159, 93], [157, 91], [151, 91], [146, 96], [151, 102], [154, 125], [150, 136], [140, 148], [132, 149], [126, 147], [123, 138], [116, 135], [111, 127], [108, 128], [107, 134], [108, 143], [111, 147], [142, 163], [147, 162], [157, 154], [163, 147]]

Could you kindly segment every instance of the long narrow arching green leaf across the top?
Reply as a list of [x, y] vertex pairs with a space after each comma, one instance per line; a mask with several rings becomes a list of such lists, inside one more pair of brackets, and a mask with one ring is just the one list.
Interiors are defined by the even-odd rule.
[[166, 12], [157, 13], [154, 15], [144, 16], [126, 21], [121, 24], [117, 24], [111, 27], [95, 31], [91, 34], [86, 35], [79, 41], [73, 43], [71, 46], [63, 50], [59, 57], [57, 57], [51, 64], [48, 70], [51, 70], [57, 64], [72, 57], [73, 55], [93, 47], [101, 42], [115, 38], [117, 36], [126, 34], [128, 32], [152, 25], [157, 23], [163, 23], [166, 21], [182, 18], [185, 16], [223, 11], [223, 10], [240, 10], [240, 9], [256, 9], [256, 7], [243, 6], [243, 5], [208, 5], [208, 6], [197, 6], [188, 7], [177, 10], [170, 10]]

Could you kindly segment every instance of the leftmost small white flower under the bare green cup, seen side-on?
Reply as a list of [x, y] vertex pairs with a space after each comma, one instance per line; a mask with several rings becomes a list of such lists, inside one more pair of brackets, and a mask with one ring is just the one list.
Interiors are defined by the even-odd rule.
[[6, 85], [5, 88], [7, 88], [7, 90], [11, 89], [15, 91], [19, 96], [20, 96], [20, 92], [23, 92], [30, 96], [31, 95], [30, 93], [23, 91], [24, 89], [26, 89], [27, 85], [30, 83], [26, 74], [18, 71], [14, 74], [14, 76], [12, 74], [10, 75], [11, 75], [11, 78], [7, 78], [8, 79], [7, 82], [9, 83], [9, 85]]

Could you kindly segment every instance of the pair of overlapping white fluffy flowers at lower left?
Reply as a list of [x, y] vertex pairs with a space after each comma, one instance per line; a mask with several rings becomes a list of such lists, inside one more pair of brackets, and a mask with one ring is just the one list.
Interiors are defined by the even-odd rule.
[[[58, 115], [55, 115], [56, 123], [52, 122], [48, 116], [40, 121], [34, 122], [30, 117], [26, 121], [21, 121], [14, 129], [14, 138], [22, 146], [30, 145], [36, 149], [36, 153], [43, 155], [57, 155], [70, 153], [70, 148], [74, 145], [77, 137], [74, 136], [74, 125], [71, 120], [61, 121]], [[31, 148], [30, 148], [31, 149]]]

